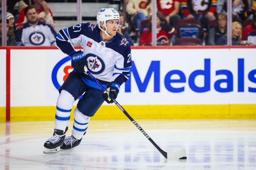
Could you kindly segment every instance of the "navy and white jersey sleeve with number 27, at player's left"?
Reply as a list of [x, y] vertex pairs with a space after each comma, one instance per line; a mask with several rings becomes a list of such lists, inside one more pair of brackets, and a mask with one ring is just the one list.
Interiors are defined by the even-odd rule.
[[90, 23], [78, 24], [60, 30], [55, 40], [56, 46], [68, 55], [74, 52], [75, 48], [73, 45], [81, 43], [82, 38], [80, 35], [86, 32], [88, 24]]

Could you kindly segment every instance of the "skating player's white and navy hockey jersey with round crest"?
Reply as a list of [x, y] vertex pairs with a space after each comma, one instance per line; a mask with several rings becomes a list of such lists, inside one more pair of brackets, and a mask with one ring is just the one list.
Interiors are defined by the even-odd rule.
[[[75, 51], [74, 44], [80, 44], [87, 60], [88, 70], [106, 88], [108, 82], [122, 85], [130, 77], [132, 66], [129, 42], [116, 32], [109, 42], [102, 41], [98, 25], [83, 23], [62, 29], [56, 37], [56, 46], [66, 54]], [[74, 71], [78, 73], [75, 69]], [[89, 86], [100, 89], [88, 74], [78, 73]]]

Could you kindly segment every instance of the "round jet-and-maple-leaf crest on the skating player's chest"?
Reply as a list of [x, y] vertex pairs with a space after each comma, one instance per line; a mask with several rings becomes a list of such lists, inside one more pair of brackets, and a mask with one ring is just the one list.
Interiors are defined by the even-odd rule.
[[100, 74], [105, 70], [105, 63], [99, 56], [88, 53], [85, 58], [87, 60], [87, 68], [92, 74]]

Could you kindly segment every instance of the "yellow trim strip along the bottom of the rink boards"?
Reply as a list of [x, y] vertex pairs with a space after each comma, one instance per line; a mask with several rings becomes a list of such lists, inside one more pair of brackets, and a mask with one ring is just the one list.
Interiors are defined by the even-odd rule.
[[[231, 105], [133, 105], [123, 106], [134, 119], [256, 119], [256, 104]], [[11, 121], [52, 121], [56, 106], [11, 107]], [[73, 107], [70, 120], [73, 118]], [[3, 113], [4, 110], [4, 113]], [[5, 121], [5, 107], [0, 108]], [[126, 119], [114, 105], [101, 106], [94, 120]]]

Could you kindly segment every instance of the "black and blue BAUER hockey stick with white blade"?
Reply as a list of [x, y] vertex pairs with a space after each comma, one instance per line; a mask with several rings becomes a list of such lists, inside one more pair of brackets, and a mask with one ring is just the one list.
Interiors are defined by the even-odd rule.
[[[92, 80], [94, 82], [96, 82], [99, 87], [103, 90], [103, 91], [107, 91], [101, 84], [100, 82], [91, 74], [91, 72], [87, 69], [86, 66], [84, 66], [84, 71], [92, 78]], [[122, 112], [125, 114], [125, 116], [127, 116], [131, 122], [140, 130], [141, 133], [143, 133], [143, 135], [148, 138], [148, 140], [156, 147], [156, 149], [166, 158], [166, 159], [179, 159], [182, 158], [186, 155], [186, 150], [185, 149], [181, 149], [178, 152], [174, 152], [174, 153], [167, 153], [164, 152], [158, 145], [156, 145], [156, 143], [149, 137], [149, 135], [142, 129], [142, 127], [128, 114], [128, 112], [126, 110], [124, 110], [124, 108], [115, 100], [112, 99], [113, 102], [116, 104], [116, 106], [122, 110]], [[184, 159], [184, 158], [183, 158]]]

